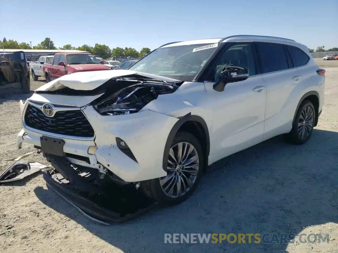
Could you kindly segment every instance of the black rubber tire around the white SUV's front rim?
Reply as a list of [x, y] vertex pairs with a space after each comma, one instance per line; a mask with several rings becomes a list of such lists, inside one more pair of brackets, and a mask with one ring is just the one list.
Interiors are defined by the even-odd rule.
[[203, 149], [201, 147], [201, 144], [197, 140], [195, 136], [193, 136], [190, 133], [187, 132], [178, 132], [170, 146], [173, 147], [179, 142], [188, 142], [191, 145], [193, 145], [197, 151], [198, 154], [198, 159], [199, 159], [199, 168], [198, 168], [198, 174], [196, 177], [196, 180], [194, 182], [194, 185], [190, 188], [190, 190], [184, 194], [181, 197], [178, 198], [170, 198], [168, 197], [162, 190], [161, 185], [160, 185], [160, 179], [159, 178], [154, 178], [150, 180], [150, 188], [151, 188], [151, 195], [152, 198], [155, 199], [156, 201], [159, 201], [163, 204], [169, 204], [169, 205], [175, 205], [183, 202], [186, 200], [196, 189], [201, 176], [203, 174], [203, 169], [204, 169], [204, 153]]

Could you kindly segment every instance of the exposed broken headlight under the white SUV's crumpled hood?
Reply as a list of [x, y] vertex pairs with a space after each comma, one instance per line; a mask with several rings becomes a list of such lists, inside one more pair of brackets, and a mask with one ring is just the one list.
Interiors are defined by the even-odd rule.
[[158, 97], [153, 86], [134, 84], [123, 88], [94, 105], [101, 115], [124, 115], [141, 110]]

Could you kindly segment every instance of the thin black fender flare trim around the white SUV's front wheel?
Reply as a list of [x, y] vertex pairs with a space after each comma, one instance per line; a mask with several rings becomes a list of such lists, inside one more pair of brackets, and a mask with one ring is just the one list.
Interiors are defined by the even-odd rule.
[[174, 126], [172, 127], [168, 135], [167, 142], [164, 148], [164, 154], [163, 154], [163, 170], [164, 171], [167, 171], [168, 157], [169, 157], [169, 150], [170, 150], [171, 143], [173, 142], [175, 135], [178, 132], [179, 128], [187, 121], [196, 121], [202, 125], [202, 128], [206, 134], [206, 157], [204, 158], [204, 160], [206, 161], [206, 164], [208, 165], [208, 157], [210, 153], [210, 135], [209, 135], [209, 129], [208, 129], [207, 123], [200, 116], [191, 115], [191, 112], [189, 112], [186, 115], [179, 118], [179, 120], [174, 124]]

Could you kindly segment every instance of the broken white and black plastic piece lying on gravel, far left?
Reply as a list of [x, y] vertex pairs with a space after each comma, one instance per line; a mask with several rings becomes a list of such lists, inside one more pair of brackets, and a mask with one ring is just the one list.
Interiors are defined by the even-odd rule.
[[21, 180], [26, 176], [34, 174], [48, 167], [50, 166], [42, 163], [31, 163], [28, 161], [14, 162], [0, 174], [0, 183]]

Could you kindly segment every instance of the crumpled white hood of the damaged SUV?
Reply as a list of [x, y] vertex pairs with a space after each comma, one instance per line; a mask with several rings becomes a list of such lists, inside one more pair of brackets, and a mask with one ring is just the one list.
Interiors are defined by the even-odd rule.
[[70, 75], [59, 77], [49, 83], [46, 83], [35, 91], [54, 91], [65, 87], [74, 90], [93, 90], [112, 78], [127, 78], [131, 75], [138, 75], [141, 78], [158, 79], [168, 83], [182, 83], [182, 81], [168, 77], [136, 72], [127, 69], [116, 69], [110, 71], [76, 72]]

